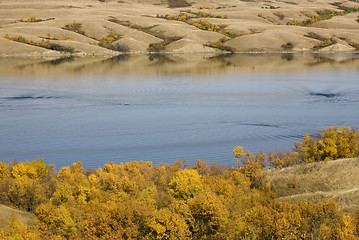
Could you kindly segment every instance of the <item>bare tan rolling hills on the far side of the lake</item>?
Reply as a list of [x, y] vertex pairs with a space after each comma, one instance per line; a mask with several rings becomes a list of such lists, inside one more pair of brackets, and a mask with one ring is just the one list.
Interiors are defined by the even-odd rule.
[[[47, 41], [72, 47], [75, 55], [116, 55], [118, 52], [99, 45], [110, 33], [120, 38], [113, 42], [126, 46], [130, 53], [147, 53], [150, 44], [176, 37], [162, 52], [212, 53], [222, 50], [205, 46], [219, 41], [235, 52], [354, 52], [359, 44], [359, 12], [318, 21], [311, 26], [290, 26], [290, 21], [303, 21], [316, 11], [343, 11], [343, 7], [359, 7], [356, 1], [195, 1], [191, 6], [170, 8], [164, 0], [1, 0], [0, 56], [59, 56], [63, 52], [45, 49], [4, 38], [22, 36], [27, 41]], [[212, 25], [223, 25], [221, 32], [199, 29], [188, 22], [167, 20], [157, 15], [178, 16], [191, 11], [190, 16], [208, 13], [212, 17], [193, 18]], [[197, 15], [198, 16], [198, 15]], [[216, 18], [220, 16], [223, 18]], [[30, 17], [38, 22], [27, 22]], [[111, 22], [116, 19], [118, 22]], [[63, 29], [66, 24], [81, 24], [83, 34]], [[316, 34], [316, 38], [308, 37]], [[49, 37], [50, 36], [50, 37]], [[319, 39], [318, 39], [319, 38]], [[314, 49], [325, 39], [330, 46]], [[291, 47], [283, 45], [291, 43]]]

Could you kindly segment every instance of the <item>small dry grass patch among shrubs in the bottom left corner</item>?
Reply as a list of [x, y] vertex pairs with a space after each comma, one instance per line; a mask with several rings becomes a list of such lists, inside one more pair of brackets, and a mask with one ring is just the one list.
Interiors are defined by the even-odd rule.
[[0, 228], [5, 228], [7, 226], [9, 220], [11, 220], [12, 214], [15, 214], [15, 216], [27, 226], [31, 227], [35, 224], [34, 217], [31, 213], [0, 204]]

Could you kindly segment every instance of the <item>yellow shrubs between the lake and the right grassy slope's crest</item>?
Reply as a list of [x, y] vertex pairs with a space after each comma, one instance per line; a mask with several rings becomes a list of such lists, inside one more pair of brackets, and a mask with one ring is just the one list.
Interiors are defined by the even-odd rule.
[[[320, 94], [319, 94], [320, 95]], [[324, 94], [323, 94], [324, 95]], [[326, 96], [326, 95], [324, 95]], [[331, 97], [328, 95], [328, 97]], [[359, 156], [359, 133], [350, 127], [329, 127], [317, 132], [315, 137], [304, 134], [304, 139], [294, 143], [292, 151], [275, 151], [254, 156], [243, 147], [233, 149], [238, 164], [270, 166], [273, 168], [288, 167], [301, 163], [331, 161], [340, 158]]]

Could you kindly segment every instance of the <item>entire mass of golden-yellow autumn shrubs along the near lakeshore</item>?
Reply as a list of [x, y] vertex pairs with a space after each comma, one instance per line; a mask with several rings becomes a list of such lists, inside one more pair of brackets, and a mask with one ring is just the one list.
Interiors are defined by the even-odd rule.
[[[358, 134], [349, 127], [324, 129], [318, 138], [305, 135], [295, 144], [295, 159], [303, 161], [294, 164], [358, 155], [358, 144]], [[344, 214], [334, 201], [275, 200], [262, 171], [267, 155], [253, 156], [241, 147], [234, 153], [237, 167], [201, 160], [193, 166], [132, 161], [85, 170], [76, 162], [56, 171], [42, 159], [0, 162], [0, 202], [36, 218], [33, 228], [11, 219], [0, 229], [0, 239], [359, 237], [359, 212]], [[283, 161], [288, 156], [295, 155], [281, 155]], [[283, 161], [273, 163], [279, 167]], [[312, 172], [318, 175], [318, 168]], [[283, 184], [299, 191], [301, 179], [290, 176]]]

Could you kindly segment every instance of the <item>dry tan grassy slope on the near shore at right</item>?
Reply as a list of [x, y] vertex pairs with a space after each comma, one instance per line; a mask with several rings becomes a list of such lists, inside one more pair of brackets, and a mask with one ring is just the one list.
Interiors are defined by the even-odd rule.
[[338, 202], [344, 212], [359, 209], [359, 159], [301, 164], [265, 171], [280, 201]]

